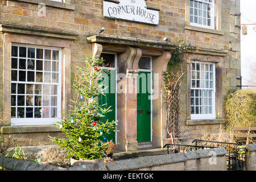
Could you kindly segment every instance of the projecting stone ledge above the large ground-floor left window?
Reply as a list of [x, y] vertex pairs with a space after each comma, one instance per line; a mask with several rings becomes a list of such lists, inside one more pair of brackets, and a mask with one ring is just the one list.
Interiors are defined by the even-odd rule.
[[0, 24], [0, 32], [48, 36], [52, 38], [71, 39], [71, 40], [76, 40], [78, 36], [76, 32], [67, 32], [57, 28], [30, 27], [30, 26], [20, 26], [17, 24]]

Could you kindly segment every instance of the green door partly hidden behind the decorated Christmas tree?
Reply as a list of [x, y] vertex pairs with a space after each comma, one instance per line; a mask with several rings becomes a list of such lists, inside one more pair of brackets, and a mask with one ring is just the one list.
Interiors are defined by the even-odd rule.
[[[108, 85], [104, 85], [102, 86], [102, 88], [106, 88], [106, 86], [108, 86], [107, 91], [104, 96], [104, 94], [100, 94], [98, 96], [98, 104], [99, 105], [104, 105], [102, 106], [102, 108], [108, 108], [109, 106], [110, 107], [110, 111], [109, 113], [106, 113], [105, 114], [105, 118], [104, 118], [104, 121], [103, 122], [106, 122], [107, 119], [109, 120], [109, 122], [115, 120], [115, 70], [104, 70], [103, 73], [106, 73], [106, 75], [108, 75], [108, 77], [105, 77], [104, 79], [107, 79], [107, 80], [100, 80], [98, 82], [100, 82], [101, 84], [103, 82], [108, 82]], [[113, 139], [113, 142], [115, 142], [115, 132], [113, 133], [110, 133], [110, 134], [104, 134], [104, 136], [107, 138], [107, 140], [111, 140]], [[103, 140], [103, 137], [102, 135], [102, 140]]]

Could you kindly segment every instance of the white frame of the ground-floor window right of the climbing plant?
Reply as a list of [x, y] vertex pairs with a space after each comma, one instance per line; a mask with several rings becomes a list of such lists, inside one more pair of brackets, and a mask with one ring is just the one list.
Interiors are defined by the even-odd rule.
[[[195, 71], [196, 68], [192, 68], [192, 63], [199, 63], [200, 64], [200, 87], [199, 88], [192, 88], [192, 71]], [[205, 61], [192, 61], [191, 63], [191, 71], [190, 71], [190, 90], [212, 90], [212, 114], [192, 114], [192, 111], [191, 111], [191, 119], [216, 119], [216, 101], [215, 101], [215, 98], [216, 98], [216, 71], [215, 71], [215, 64], [214, 63], [211, 63], [211, 62], [205, 62]], [[205, 82], [204, 82], [204, 87], [202, 86], [202, 81], [201, 80], [205, 80], [205, 77], [202, 79], [202, 71], [201, 71], [201, 64], [212, 64], [213, 65], [213, 88], [210, 88], [210, 81], [209, 81], [209, 88], [206, 88], [205, 86]], [[209, 68], [210, 69], [210, 68]], [[205, 75], [205, 69], [204, 69], [204, 75]], [[195, 76], [196, 76], [196, 73], [195, 73]], [[209, 80], [210, 80], [210, 74], [209, 74]], [[196, 83], [195, 83], [196, 84]], [[191, 99], [192, 96], [189, 98]], [[196, 98], [196, 96], [194, 96], [194, 98]], [[204, 106], [204, 105], [200, 105], [200, 93], [199, 93], [199, 113], [201, 112], [200, 111], [200, 106]], [[205, 97], [204, 97], [205, 98]], [[207, 103], [209, 102], [209, 97], [207, 97], [208, 101]], [[196, 105], [196, 100], [194, 101], [195, 102], [195, 105]], [[203, 100], [204, 102], [204, 100]], [[209, 103], [207, 104], [209, 106]], [[191, 106], [192, 107], [192, 106]], [[195, 112], [196, 112], [196, 107], [195, 107]]]

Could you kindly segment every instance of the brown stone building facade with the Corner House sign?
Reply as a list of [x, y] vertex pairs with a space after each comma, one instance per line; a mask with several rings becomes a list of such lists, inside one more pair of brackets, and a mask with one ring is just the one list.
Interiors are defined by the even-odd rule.
[[[159, 21], [148, 24], [141, 19], [126, 20], [128, 16], [104, 17], [104, 3], [114, 7], [125, 2], [134, 6], [146, 3], [141, 6], [143, 15], [154, 11]], [[109, 10], [115, 15], [129, 10], [138, 14], [122, 7]], [[183, 63], [189, 74], [181, 85], [181, 138], [191, 142], [223, 128], [224, 96], [240, 85], [240, 0], [1, 0], [0, 12], [0, 114], [5, 120], [1, 132], [13, 135], [20, 146], [52, 144], [48, 135], [62, 136], [51, 123], [56, 122], [55, 115], [68, 113], [72, 68], [82, 64], [84, 55], [102, 53], [114, 55], [114, 70], [125, 75], [125, 88], [130, 83], [137, 88], [135, 75], [139, 71], [158, 74], [158, 79], [152, 76], [151, 81], [159, 97], [150, 102], [150, 139], [137, 139], [137, 93], [115, 94], [119, 150], [170, 143], [163, 73], [178, 37], [198, 47], [193, 60]], [[98, 35], [102, 27], [105, 31]], [[171, 43], [164, 41], [165, 37]], [[151, 65], [148, 70], [141, 69], [142, 57]]]

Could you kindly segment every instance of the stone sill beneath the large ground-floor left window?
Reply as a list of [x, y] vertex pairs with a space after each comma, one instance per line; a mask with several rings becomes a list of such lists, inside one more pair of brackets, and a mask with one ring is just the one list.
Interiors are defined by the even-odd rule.
[[14, 133], [43, 133], [43, 132], [59, 132], [61, 131], [54, 125], [42, 126], [3, 126], [1, 127], [2, 134]]

